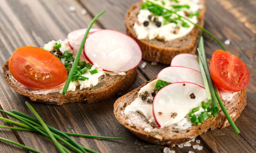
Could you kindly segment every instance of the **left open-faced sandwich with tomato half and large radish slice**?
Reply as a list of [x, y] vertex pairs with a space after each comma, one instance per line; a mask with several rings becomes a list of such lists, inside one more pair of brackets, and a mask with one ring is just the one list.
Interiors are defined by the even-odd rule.
[[10, 87], [33, 101], [56, 105], [93, 103], [127, 89], [136, 78], [140, 47], [120, 32], [92, 29], [67, 93], [61, 94], [86, 30], [73, 31], [67, 39], [41, 48], [16, 49], [3, 66]]

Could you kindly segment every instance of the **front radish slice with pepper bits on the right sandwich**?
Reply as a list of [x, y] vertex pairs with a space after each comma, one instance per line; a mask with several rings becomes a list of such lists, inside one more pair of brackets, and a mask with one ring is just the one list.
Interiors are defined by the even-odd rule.
[[206, 98], [205, 89], [197, 84], [179, 82], [167, 85], [154, 98], [153, 116], [159, 127], [173, 125], [193, 108], [201, 106]]

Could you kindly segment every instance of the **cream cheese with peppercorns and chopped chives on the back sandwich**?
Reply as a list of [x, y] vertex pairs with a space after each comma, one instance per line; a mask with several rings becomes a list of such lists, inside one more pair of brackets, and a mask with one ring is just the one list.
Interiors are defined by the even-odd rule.
[[[143, 1], [145, 3], [145, 1]], [[161, 0], [153, 1], [166, 9], [172, 10], [190, 21], [198, 22], [198, 11], [203, 8], [200, 0]], [[177, 7], [179, 6], [179, 7]], [[166, 18], [167, 16], [167, 18]], [[193, 30], [194, 25], [173, 13], [154, 15], [154, 10], [144, 8], [137, 15], [134, 30], [138, 39], [174, 40], [187, 35]]]

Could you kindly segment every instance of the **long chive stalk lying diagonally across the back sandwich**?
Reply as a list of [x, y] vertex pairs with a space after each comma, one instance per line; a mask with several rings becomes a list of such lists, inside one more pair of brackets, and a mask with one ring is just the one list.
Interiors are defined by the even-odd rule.
[[162, 8], [162, 9], [164, 9], [164, 10], [169, 11], [170, 13], [174, 13], [174, 14], [178, 15], [179, 17], [181, 17], [181, 18], [187, 20], [188, 22], [194, 24], [197, 28], [201, 29], [203, 32], [205, 32], [205, 33], [208, 34], [211, 38], [213, 38], [213, 39], [221, 46], [221, 48], [226, 51], [225, 47], [224, 47], [223, 44], [220, 42], [220, 40], [217, 39], [214, 35], [212, 35], [209, 31], [207, 31], [206, 29], [202, 28], [200, 25], [198, 25], [198, 24], [196, 24], [196, 23], [190, 21], [188, 18], [183, 17], [183, 16], [179, 15], [178, 13], [176, 13], [176, 12], [174, 12], [174, 11], [172, 11], [172, 10], [166, 9], [165, 7], [162, 7], [162, 6], [156, 4], [156, 3], [152, 2], [152, 1], [146, 0], [146, 2], [150, 2], [150, 3], [154, 4], [154, 5], [157, 6], [157, 7], [160, 7], [160, 8]]

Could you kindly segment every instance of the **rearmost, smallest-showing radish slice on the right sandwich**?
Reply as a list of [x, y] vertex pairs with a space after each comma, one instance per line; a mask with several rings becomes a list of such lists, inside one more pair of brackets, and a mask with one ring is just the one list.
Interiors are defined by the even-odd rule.
[[199, 63], [197, 58], [193, 54], [179, 54], [175, 56], [170, 63], [170, 66], [183, 66], [200, 71]]

